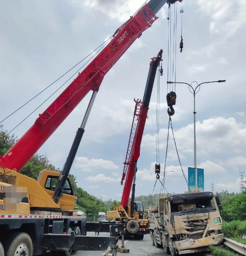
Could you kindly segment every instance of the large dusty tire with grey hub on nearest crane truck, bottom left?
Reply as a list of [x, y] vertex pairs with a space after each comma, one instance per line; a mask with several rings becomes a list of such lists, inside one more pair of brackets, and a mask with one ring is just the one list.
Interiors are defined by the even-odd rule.
[[32, 256], [32, 240], [29, 234], [15, 232], [5, 242], [5, 256]]

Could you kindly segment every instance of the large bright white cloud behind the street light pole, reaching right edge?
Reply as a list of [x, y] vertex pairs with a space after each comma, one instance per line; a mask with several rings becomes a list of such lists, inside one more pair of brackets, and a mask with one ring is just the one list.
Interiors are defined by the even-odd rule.
[[[194, 149], [194, 125], [189, 124], [177, 131], [174, 130], [175, 140], [177, 142], [178, 151], [193, 152]], [[167, 129], [160, 131], [160, 148], [166, 147]], [[196, 123], [196, 139], [197, 149], [203, 150], [210, 156], [213, 153], [226, 152], [240, 153], [246, 149], [246, 126], [237, 123], [235, 118], [215, 117], [203, 120], [202, 123]], [[156, 135], [146, 134], [142, 140], [142, 147], [149, 150], [155, 150]], [[173, 140], [170, 139], [170, 147], [173, 149]]]

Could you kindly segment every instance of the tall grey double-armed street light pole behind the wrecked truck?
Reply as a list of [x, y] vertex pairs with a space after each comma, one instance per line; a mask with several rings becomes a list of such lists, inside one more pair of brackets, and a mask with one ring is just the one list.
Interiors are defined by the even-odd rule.
[[[180, 84], [187, 84], [189, 91], [194, 95], [194, 169], [195, 169], [195, 191], [197, 191], [197, 168], [196, 168], [196, 107], [195, 107], [195, 95], [199, 92], [200, 90], [200, 85], [204, 84], [204, 83], [215, 83], [215, 82], [225, 82], [225, 80], [218, 80], [218, 81], [211, 81], [211, 82], [202, 82], [200, 84], [198, 84], [198, 82], [196, 82], [197, 86], [195, 87], [195, 89], [191, 86], [194, 82], [193, 81], [191, 84], [185, 83], [185, 82], [170, 82], [168, 81], [167, 84], [172, 84], [172, 83], [180, 83]], [[199, 88], [199, 89], [198, 89]], [[192, 91], [191, 91], [192, 89]], [[196, 90], [198, 89], [198, 91], [196, 92]]]

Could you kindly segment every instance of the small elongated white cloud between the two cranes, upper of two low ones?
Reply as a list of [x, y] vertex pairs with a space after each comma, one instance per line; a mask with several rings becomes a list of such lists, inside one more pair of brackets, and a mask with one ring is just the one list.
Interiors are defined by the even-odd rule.
[[75, 167], [80, 168], [82, 171], [86, 172], [91, 172], [94, 169], [119, 169], [119, 166], [112, 161], [104, 159], [88, 159], [85, 157], [76, 157]]

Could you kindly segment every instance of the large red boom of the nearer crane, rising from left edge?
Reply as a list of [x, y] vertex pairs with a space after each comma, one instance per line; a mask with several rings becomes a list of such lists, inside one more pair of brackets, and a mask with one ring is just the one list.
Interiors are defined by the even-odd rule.
[[141, 33], [157, 20], [165, 0], [150, 0], [119, 27], [114, 38], [58, 98], [39, 115], [34, 125], [0, 157], [0, 166], [19, 172], [90, 90], [98, 91], [106, 73]]

